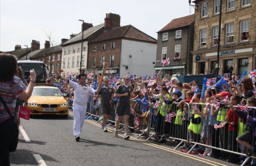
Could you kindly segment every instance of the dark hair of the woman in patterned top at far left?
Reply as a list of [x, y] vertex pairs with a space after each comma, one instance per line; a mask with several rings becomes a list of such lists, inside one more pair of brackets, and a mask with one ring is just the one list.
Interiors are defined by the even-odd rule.
[[13, 81], [18, 62], [14, 55], [0, 53], [0, 81]]

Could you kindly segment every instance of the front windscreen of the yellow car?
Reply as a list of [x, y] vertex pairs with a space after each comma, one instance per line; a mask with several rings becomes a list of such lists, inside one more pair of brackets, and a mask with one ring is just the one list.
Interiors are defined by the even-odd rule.
[[62, 96], [59, 89], [34, 88], [32, 96]]

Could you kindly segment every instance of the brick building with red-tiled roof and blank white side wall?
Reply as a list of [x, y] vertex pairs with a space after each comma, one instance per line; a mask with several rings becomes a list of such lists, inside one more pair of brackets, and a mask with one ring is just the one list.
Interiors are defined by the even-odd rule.
[[105, 32], [89, 42], [88, 70], [95, 75], [102, 73], [104, 62], [109, 64], [106, 73], [118, 73], [121, 77], [131, 74], [155, 73], [156, 39], [134, 26], [120, 26], [118, 14], [106, 14]]

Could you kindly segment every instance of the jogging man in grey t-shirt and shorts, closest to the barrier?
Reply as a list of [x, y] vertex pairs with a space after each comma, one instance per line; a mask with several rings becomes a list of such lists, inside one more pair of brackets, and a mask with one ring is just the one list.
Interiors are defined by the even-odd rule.
[[133, 96], [132, 86], [129, 85], [130, 78], [128, 76], [124, 79], [124, 84], [119, 85], [116, 89], [114, 97], [119, 97], [119, 105], [117, 107], [116, 113], [118, 114], [118, 119], [116, 121], [116, 128], [114, 131], [114, 136], [118, 137], [118, 126], [122, 120], [122, 116], [124, 115], [124, 139], [127, 140], [130, 136], [127, 134], [128, 132], [128, 121], [130, 117], [130, 96]]

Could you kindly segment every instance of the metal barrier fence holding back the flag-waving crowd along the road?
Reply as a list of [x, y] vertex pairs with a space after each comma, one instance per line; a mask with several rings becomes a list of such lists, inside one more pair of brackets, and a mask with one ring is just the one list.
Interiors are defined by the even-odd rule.
[[[89, 96], [86, 119], [92, 116], [101, 118], [101, 99], [99, 98], [95, 103], [93, 102], [93, 98], [93, 95]], [[247, 120], [246, 113], [243, 113], [245, 118], [237, 118], [235, 113], [229, 113], [229, 105], [221, 106], [218, 111], [216, 111], [212, 104], [194, 103], [190, 107], [188, 103], [184, 103], [181, 107], [177, 107], [178, 104], [179, 103], [166, 105], [167, 108], [165, 109], [168, 111], [160, 114], [159, 112], [156, 113], [157, 111], [154, 110], [154, 108], [144, 108], [145, 106], [143, 104], [132, 101], [131, 106], [134, 108], [134, 113], [131, 111], [129, 118], [130, 130], [138, 130], [138, 132], [141, 132], [137, 138], [144, 138], [145, 141], [153, 137], [155, 141], [160, 143], [165, 142], [166, 138], [172, 139], [172, 142], [177, 144], [174, 150], [181, 148], [180, 146], [183, 144], [183, 148], [187, 147], [187, 153], [192, 152], [195, 147], [197, 147], [197, 149], [201, 148], [203, 152], [203, 147], [206, 147], [207, 149], [211, 148], [209, 152], [213, 155], [226, 157], [231, 160], [237, 160], [238, 156], [246, 156], [249, 149], [238, 144], [236, 140], [237, 137], [244, 142], [248, 139], [249, 134], [247, 134], [247, 137], [244, 136], [248, 133], [246, 121], [248, 123], [249, 120]], [[108, 120], [109, 122], [116, 121], [117, 115], [115, 111], [117, 106], [118, 101], [114, 101]], [[70, 107], [72, 108], [72, 106]], [[233, 107], [238, 108], [238, 106]], [[248, 109], [255, 109], [252, 117], [256, 117], [256, 107], [248, 107]], [[165, 115], [168, 113], [171, 113], [173, 116], [167, 118]], [[247, 115], [249, 114], [247, 113]], [[229, 122], [226, 123], [225, 119], [227, 115], [229, 120], [236, 120], [234, 121], [234, 125], [231, 126]], [[99, 121], [101, 121], [101, 119], [97, 122]], [[124, 120], [122, 120], [122, 122], [124, 122]], [[122, 124], [122, 122], [120, 124]], [[256, 124], [256, 119], [254, 123]], [[250, 122], [250, 124], [253, 131], [250, 131], [251, 137], [248, 142], [252, 145], [252, 149], [254, 149], [256, 144], [256, 137], [254, 137], [255, 126], [253, 122]], [[118, 127], [119, 126], [116, 126], [116, 128]], [[119, 131], [122, 129], [123, 128]], [[242, 134], [244, 135], [241, 136]], [[242, 163], [242, 166], [245, 165], [250, 158], [256, 159], [254, 156], [248, 156]]]

